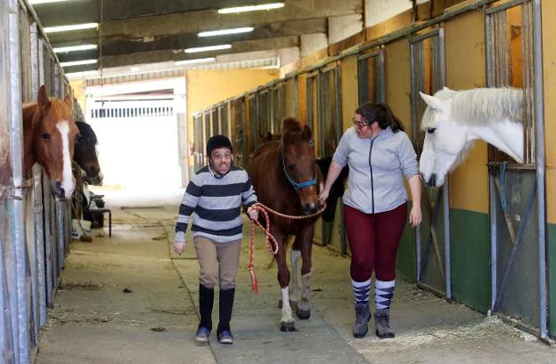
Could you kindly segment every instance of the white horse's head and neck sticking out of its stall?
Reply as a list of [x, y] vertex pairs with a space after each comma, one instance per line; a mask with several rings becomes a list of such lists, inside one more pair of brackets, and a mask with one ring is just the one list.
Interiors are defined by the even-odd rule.
[[432, 187], [444, 184], [446, 174], [462, 163], [477, 139], [523, 163], [522, 90], [444, 87], [434, 96], [420, 94], [427, 103], [421, 121], [426, 131], [419, 161], [423, 182]]

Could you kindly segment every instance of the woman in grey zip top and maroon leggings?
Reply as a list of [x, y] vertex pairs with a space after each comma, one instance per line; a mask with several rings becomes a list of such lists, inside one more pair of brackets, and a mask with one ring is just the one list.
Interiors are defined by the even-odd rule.
[[400, 121], [387, 105], [360, 106], [353, 123], [339, 141], [320, 198], [328, 198], [342, 168], [349, 166], [343, 202], [356, 308], [353, 335], [362, 337], [368, 330], [374, 269], [376, 335], [394, 337], [389, 309], [396, 283], [397, 247], [407, 218], [404, 175], [413, 199], [409, 222], [416, 227], [422, 218], [417, 158]]

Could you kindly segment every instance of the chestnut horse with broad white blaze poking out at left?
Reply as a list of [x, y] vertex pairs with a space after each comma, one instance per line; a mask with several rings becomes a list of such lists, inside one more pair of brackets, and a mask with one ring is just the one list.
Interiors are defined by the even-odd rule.
[[23, 171], [29, 174], [35, 163], [43, 166], [55, 198], [70, 198], [75, 189], [71, 160], [77, 136], [70, 95], [49, 99], [42, 85], [37, 102], [23, 106]]

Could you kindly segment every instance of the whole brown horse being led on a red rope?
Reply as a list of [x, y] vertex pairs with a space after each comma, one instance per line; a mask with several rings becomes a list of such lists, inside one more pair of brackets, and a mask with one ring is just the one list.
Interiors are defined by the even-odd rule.
[[[307, 125], [301, 126], [294, 118], [287, 117], [282, 121], [280, 141], [267, 142], [255, 150], [247, 166], [247, 172], [257, 192], [258, 202], [282, 214], [315, 214], [321, 207], [318, 195], [322, 190], [323, 174], [315, 165], [313, 133], [311, 128]], [[269, 214], [269, 218], [270, 232], [278, 243], [275, 259], [278, 263], [278, 282], [282, 288], [281, 330], [294, 331], [295, 321], [291, 305], [296, 308], [300, 319], [308, 319], [311, 315], [311, 247], [318, 216], [290, 220]], [[264, 224], [262, 214], [259, 219]], [[290, 253], [291, 300], [290, 271], [286, 263], [286, 243], [290, 235], [296, 237]], [[299, 257], [303, 260], [302, 289], [298, 277]]]

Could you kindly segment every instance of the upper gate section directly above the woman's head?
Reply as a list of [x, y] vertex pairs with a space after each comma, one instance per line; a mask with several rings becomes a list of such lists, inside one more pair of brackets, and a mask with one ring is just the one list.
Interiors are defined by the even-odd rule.
[[363, 53], [357, 57], [359, 105], [365, 102], [381, 103], [386, 98], [384, 76], [384, 49]]

